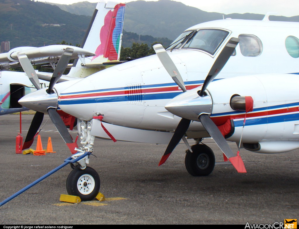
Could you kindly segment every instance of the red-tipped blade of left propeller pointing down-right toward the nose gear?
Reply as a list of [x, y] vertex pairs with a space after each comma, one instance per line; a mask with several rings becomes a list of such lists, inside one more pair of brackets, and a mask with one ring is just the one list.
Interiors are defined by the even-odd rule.
[[73, 139], [71, 135], [68, 133], [68, 129], [66, 128], [64, 122], [62, 121], [60, 115], [56, 112], [55, 108], [50, 107], [48, 110], [48, 114], [50, 116], [50, 119], [54, 123], [57, 131], [61, 135], [62, 139], [70, 149], [71, 153], [74, 154], [76, 151], [74, 151], [75, 147], [78, 147], [77, 143], [73, 143]]

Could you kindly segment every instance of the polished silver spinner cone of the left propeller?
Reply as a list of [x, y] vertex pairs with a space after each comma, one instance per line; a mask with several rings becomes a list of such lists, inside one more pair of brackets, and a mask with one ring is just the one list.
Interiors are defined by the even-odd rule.
[[50, 107], [56, 109], [58, 107], [58, 97], [56, 90], [52, 90], [55, 92], [53, 94], [48, 94], [46, 90], [47, 88], [43, 88], [25, 95], [19, 100], [19, 104], [30, 110], [35, 110], [42, 113], [47, 113], [47, 110]]

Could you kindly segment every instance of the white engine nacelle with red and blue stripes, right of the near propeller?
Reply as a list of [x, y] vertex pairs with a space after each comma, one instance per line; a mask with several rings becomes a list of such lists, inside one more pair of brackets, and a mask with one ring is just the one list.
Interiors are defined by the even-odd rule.
[[[212, 82], [211, 119], [216, 125], [233, 122], [228, 141], [259, 153], [281, 153], [299, 148], [299, 78], [295, 74], [238, 76]], [[245, 96], [245, 97], [244, 97]], [[245, 112], [245, 98], [253, 110]], [[245, 127], [244, 125], [244, 119]]]

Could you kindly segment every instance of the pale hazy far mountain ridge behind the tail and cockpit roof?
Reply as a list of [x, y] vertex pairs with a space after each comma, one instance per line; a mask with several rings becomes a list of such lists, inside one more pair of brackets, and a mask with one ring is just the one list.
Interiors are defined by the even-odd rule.
[[[83, 4], [84, 3], [84, 4]], [[83, 7], [84, 5], [84, 7]], [[262, 20], [264, 15], [254, 13], [209, 13], [197, 9], [195, 7], [186, 6], [181, 2], [160, 0], [160, 1], [132, 1], [128, 2], [125, 10], [124, 30], [141, 35], [151, 35], [153, 37], [167, 37], [174, 40], [185, 29], [207, 21], [233, 18], [233, 19], [251, 19]], [[71, 5], [59, 5], [71, 13], [76, 13], [74, 10], [95, 7], [95, 3], [79, 2]], [[86, 10], [80, 10], [77, 14], [85, 14]], [[91, 16], [93, 10], [88, 14]], [[273, 21], [291, 21], [299, 22], [299, 16], [283, 17], [270, 16]]]

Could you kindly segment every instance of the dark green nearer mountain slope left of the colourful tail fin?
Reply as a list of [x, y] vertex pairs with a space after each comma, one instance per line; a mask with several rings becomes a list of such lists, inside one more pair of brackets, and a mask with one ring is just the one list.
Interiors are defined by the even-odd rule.
[[68, 13], [43, 2], [1, 0], [0, 41], [10, 41], [11, 48], [50, 45], [62, 40], [80, 44], [90, 18]]

